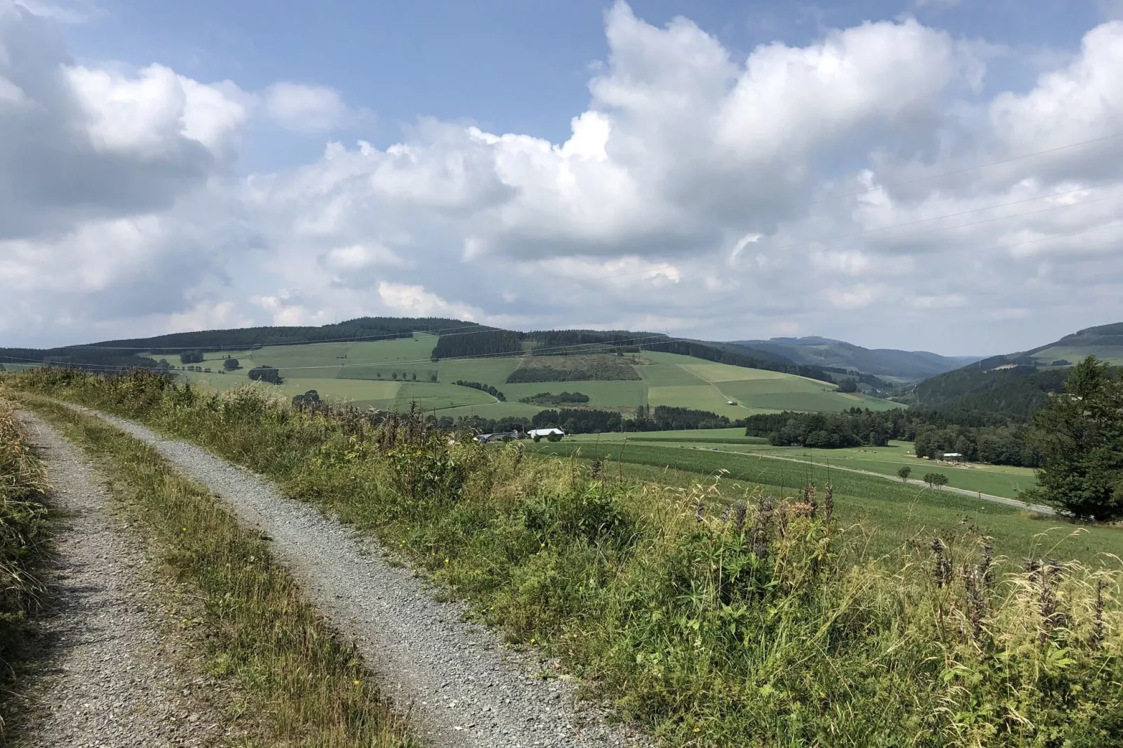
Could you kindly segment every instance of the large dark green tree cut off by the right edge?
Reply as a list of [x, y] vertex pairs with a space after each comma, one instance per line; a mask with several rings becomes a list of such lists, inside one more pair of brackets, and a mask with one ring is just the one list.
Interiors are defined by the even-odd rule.
[[1077, 519], [1123, 518], [1123, 370], [1088, 356], [1033, 425], [1044, 464], [1026, 493]]

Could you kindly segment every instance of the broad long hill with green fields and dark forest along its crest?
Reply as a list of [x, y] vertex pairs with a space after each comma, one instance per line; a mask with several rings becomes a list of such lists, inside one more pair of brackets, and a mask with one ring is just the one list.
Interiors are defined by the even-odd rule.
[[[180, 354], [202, 361], [181, 365]], [[641, 407], [712, 411], [731, 420], [783, 410], [834, 412], [897, 408], [836, 390], [819, 366], [765, 350], [632, 331], [519, 332], [445, 319], [362, 318], [322, 328], [246, 328], [111, 340], [49, 352], [3, 350], [0, 361], [102, 367], [170, 365], [218, 389], [247, 382], [257, 366], [279, 370], [277, 391], [360, 407], [421, 408], [447, 416], [532, 417], [542, 393], [579, 392], [581, 407], [631, 416]], [[239, 368], [223, 371], [227, 357]], [[15, 363], [15, 362], [13, 362]], [[211, 370], [211, 371], [204, 371]], [[460, 382], [462, 384], [457, 384]], [[502, 396], [490, 394], [492, 389]]]

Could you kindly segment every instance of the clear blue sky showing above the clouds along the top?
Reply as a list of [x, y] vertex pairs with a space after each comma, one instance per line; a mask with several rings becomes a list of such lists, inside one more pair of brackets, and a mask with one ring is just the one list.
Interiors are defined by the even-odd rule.
[[[162, 62], [198, 80], [231, 79], [244, 88], [276, 80], [330, 85], [376, 112], [377, 124], [355, 135], [380, 146], [393, 143], [400, 126], [418, 117], [474, 121], [557, 143], [588, 102], [590, 70], [608, 54], [603, 16], [611, 6], [606, 0], [108, 0], [69, 37], [80, 60]], [[775, 39], [803, 45], [824, 28], [910, 13], [957, 35], [1043, 55], [1079, 46], [1110, 8], [1096, 0], [636, 0], [631, 7], [656, 26], [685, 16], [742, 54]], [[1022, 60], [1005, 67], [988, 81], [992, 86], [1024, 84], [1035, 73]], [[321, 144], [313, 145], [318, 152]]]

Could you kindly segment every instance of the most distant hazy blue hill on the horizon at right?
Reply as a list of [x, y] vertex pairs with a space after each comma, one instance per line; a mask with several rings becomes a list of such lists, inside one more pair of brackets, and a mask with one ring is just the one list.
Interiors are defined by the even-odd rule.
[[977, 361], [970, 356], [941, 356], [926, 350], [862, 348], [820, 337], [736, 340], [734, 344], [784, 356], [797, 364], [844, 368], [898, 382], [916, 382]]

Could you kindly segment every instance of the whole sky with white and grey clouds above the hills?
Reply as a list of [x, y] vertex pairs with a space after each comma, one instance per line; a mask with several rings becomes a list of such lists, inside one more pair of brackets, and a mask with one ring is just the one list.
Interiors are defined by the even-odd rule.
[[[827, 7], [829, 6], [829, 7]], [[1123, 321], [1116, 0], [0, 0], [0, 345]]]

